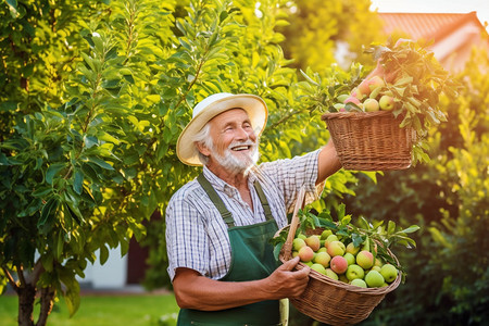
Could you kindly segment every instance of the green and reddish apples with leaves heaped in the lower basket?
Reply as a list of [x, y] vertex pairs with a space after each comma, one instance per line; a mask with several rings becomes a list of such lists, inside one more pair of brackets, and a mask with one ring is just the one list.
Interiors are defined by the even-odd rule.
[[[383, 222], [372, 224], [364, 217], [359, 220], [359, 227], [351, 223], [351, 215], [344, 215], [344, 205], [339, 212], [339, 221], [333, 222], [327, 211], [314, 214], [300, 210], [291, 255], [298, 255], [301, 263], [317, 273], [363, 288], [389, 286], [402, 276], [403, 268], [390, 248], [393, 244], [415, 247], [408, 234], [419, 227], [400, 229], [391, 221], [385, 226]], [[281, 250], [285, 234], [283, 230], [274, 238], [276, 252]]]

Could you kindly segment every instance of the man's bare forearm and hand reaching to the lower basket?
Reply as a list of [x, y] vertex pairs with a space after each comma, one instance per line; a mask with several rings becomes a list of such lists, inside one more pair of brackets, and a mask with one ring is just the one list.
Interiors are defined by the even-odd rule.
[[250, 281], [221, 281], [206, 278], [189, 268], [177, 268], [173, 287], [181, 309], [217, 311], [264, 300], [294, 298], [308, 285], [310, 268], [293, 271], [294, 258], [268, 277]]

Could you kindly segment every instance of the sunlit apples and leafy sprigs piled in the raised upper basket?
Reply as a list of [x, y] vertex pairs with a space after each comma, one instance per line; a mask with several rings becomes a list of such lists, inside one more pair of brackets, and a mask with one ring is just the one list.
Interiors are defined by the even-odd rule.
[[418, 136], [447, 120], [439, 97], [442, 92], [455, 97], [460, 85], [430, 50], [401, 40], [391, 47], [373, 46], [365, 52], [373, 53], [381, 76], [369, 75], [356, 86], [335, 86], [326, 104], [329, 112], [392, 111], [394, 116], [403, 115], [401, 127], [413, 126]]

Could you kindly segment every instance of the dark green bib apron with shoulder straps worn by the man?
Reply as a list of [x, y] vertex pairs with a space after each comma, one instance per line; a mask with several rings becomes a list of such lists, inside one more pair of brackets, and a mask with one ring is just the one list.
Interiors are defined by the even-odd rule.
[[[275, 235], [278, 227], [272, 216], [268, 201], [260, 184], [256, 181], [254, 188], [265, 211], [266, 222], [235, 226], [233, 215], [203, 174], [199, 175], [198, 181], [204, 188], [228, 226], [231, 263], [229, 272], [221, 280], [254, 280], [265, 278], [272, 274], [277, 264], [268, 240]], [[181, 309], [178, 314], [177, 325], [281, 325], [279, 301], [267, 300], [221, 311]]]

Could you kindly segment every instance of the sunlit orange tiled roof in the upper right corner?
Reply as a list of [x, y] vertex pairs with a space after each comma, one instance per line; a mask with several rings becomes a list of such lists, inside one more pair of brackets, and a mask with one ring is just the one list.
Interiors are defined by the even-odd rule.
[[402, 30], [413, 39], [439, 41], [464, 24], [475, 22], [487, 34], [475, 11], [469, 13], [378, 13], [385, 22], [385, 32]]

